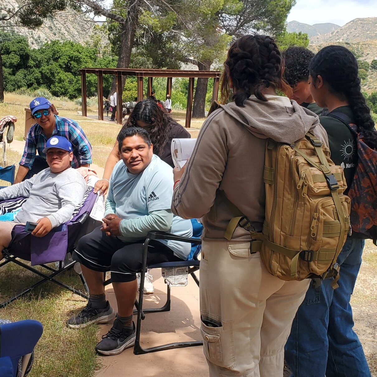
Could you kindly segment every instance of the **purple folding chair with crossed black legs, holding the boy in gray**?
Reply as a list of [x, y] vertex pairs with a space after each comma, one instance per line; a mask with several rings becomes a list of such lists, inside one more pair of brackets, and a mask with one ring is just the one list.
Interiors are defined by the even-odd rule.
[[[93, 208], [96, 198], [97, 194], [93, 193], [93, 187], [87, 186], [84, 199], [80, 205], [75, 208], [72, 219], [59, 227], [52, 229], [44, 237], [34, 237], [31, 233], [25, 232], [25, 225], [18, 224], [14, 226], [12, 229], [12, 241], [8, 248], [3, 250], [3, 257], [5, 260], [0, 263], [0, 268], [9, 262], [14, 262], [17, 265], [26, 268], [26, 270], [42, 277], [42, 279], [30, 287], [25, 288], [21, 293], [11, 299], [0, 303], [0, 308], [5, 307], [12, 301], [29, 293], [35, 287], [46, 281], [51, 281], [60, 285], [85, 299], [88, 298], [85, 294], [60, 282], [55, 279], [55, 277], [75, 265], [75, 261], [70, 261], [63, 265], [66, 254], [74, 250], [78, 240], [83, 234], [89, 233], [98, 226], [98, 221], [89, 218], [89, 213]], [[17, 208], [20, 208], [25, 201], [26, 198], [14, 198], [0, 202], [0, 215], [5, 215], [6, 213], [17, 210]], [[23, 261], [30, 261], [31, 265], [26, 264]], [[58, 262], [59, 266], [54, 268], [51, 267], [51, 265], [47, 265], [52, 262]], [[45, 268], [49, 272], [44, 273], [33, 267], [36, 265]], [[83, 282], [85, 290], [88, 292], [89, 290], [81, 272], [79, 276]]]

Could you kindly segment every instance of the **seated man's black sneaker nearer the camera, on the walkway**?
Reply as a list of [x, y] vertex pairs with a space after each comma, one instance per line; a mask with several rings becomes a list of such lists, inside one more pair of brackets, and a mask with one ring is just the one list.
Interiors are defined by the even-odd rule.
[[135, 344], [136, 329], [132, 322], [132, 330], [125, 328], [120, 320], [115, 319], [113, 327], [102, 337], [96, 346], [96, 351], [103, 355], [118, 355], [124, 349]]

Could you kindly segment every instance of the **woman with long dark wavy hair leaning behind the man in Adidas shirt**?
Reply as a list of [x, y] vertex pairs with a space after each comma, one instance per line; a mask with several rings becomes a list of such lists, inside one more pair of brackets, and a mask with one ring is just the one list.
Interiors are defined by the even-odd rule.
[[[170, 145], [174, 138], [190, 138], [190, 133], [178, 124], [173, 118], [164, 113], [155, 101], [144, 100], [138, 102], [127, 122], [122, 129], [129, 127], [143, 127], [150, 135], [153, 144], [153, 153], [162, 161], [165, 161], [171, 167], [174, 167]], [[120, 160], [118, 153], [118, 142], [110, 152], [107, 158], [103, 179], [95, 185], [95, 192], [106, 194], [109, 187], [109, 179], [115, 164]]]

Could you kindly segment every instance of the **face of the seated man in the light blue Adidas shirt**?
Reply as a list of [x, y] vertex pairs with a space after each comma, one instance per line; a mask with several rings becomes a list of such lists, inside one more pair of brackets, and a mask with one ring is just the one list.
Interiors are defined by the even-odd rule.
[[139, 174], [152, 161], [153, 145], [149, 147], [141, 136], [129, 136], [123, 140], [120, 156], [131, 174]]

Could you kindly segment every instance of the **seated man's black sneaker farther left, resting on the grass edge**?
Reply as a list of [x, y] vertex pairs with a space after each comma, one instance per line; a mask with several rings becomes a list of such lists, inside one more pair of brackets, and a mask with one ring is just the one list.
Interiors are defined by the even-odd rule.
[[104, 309], [92, 308], [88, 302], [86, 307], [77, 316], [67, 320], [67, 325], [73, 328], [83, 328], [91, 323], [107, 323], [115, 318], [115, 315], [116, 313], [110, 307], [109, 301], [106, 301], [106, 308]]

